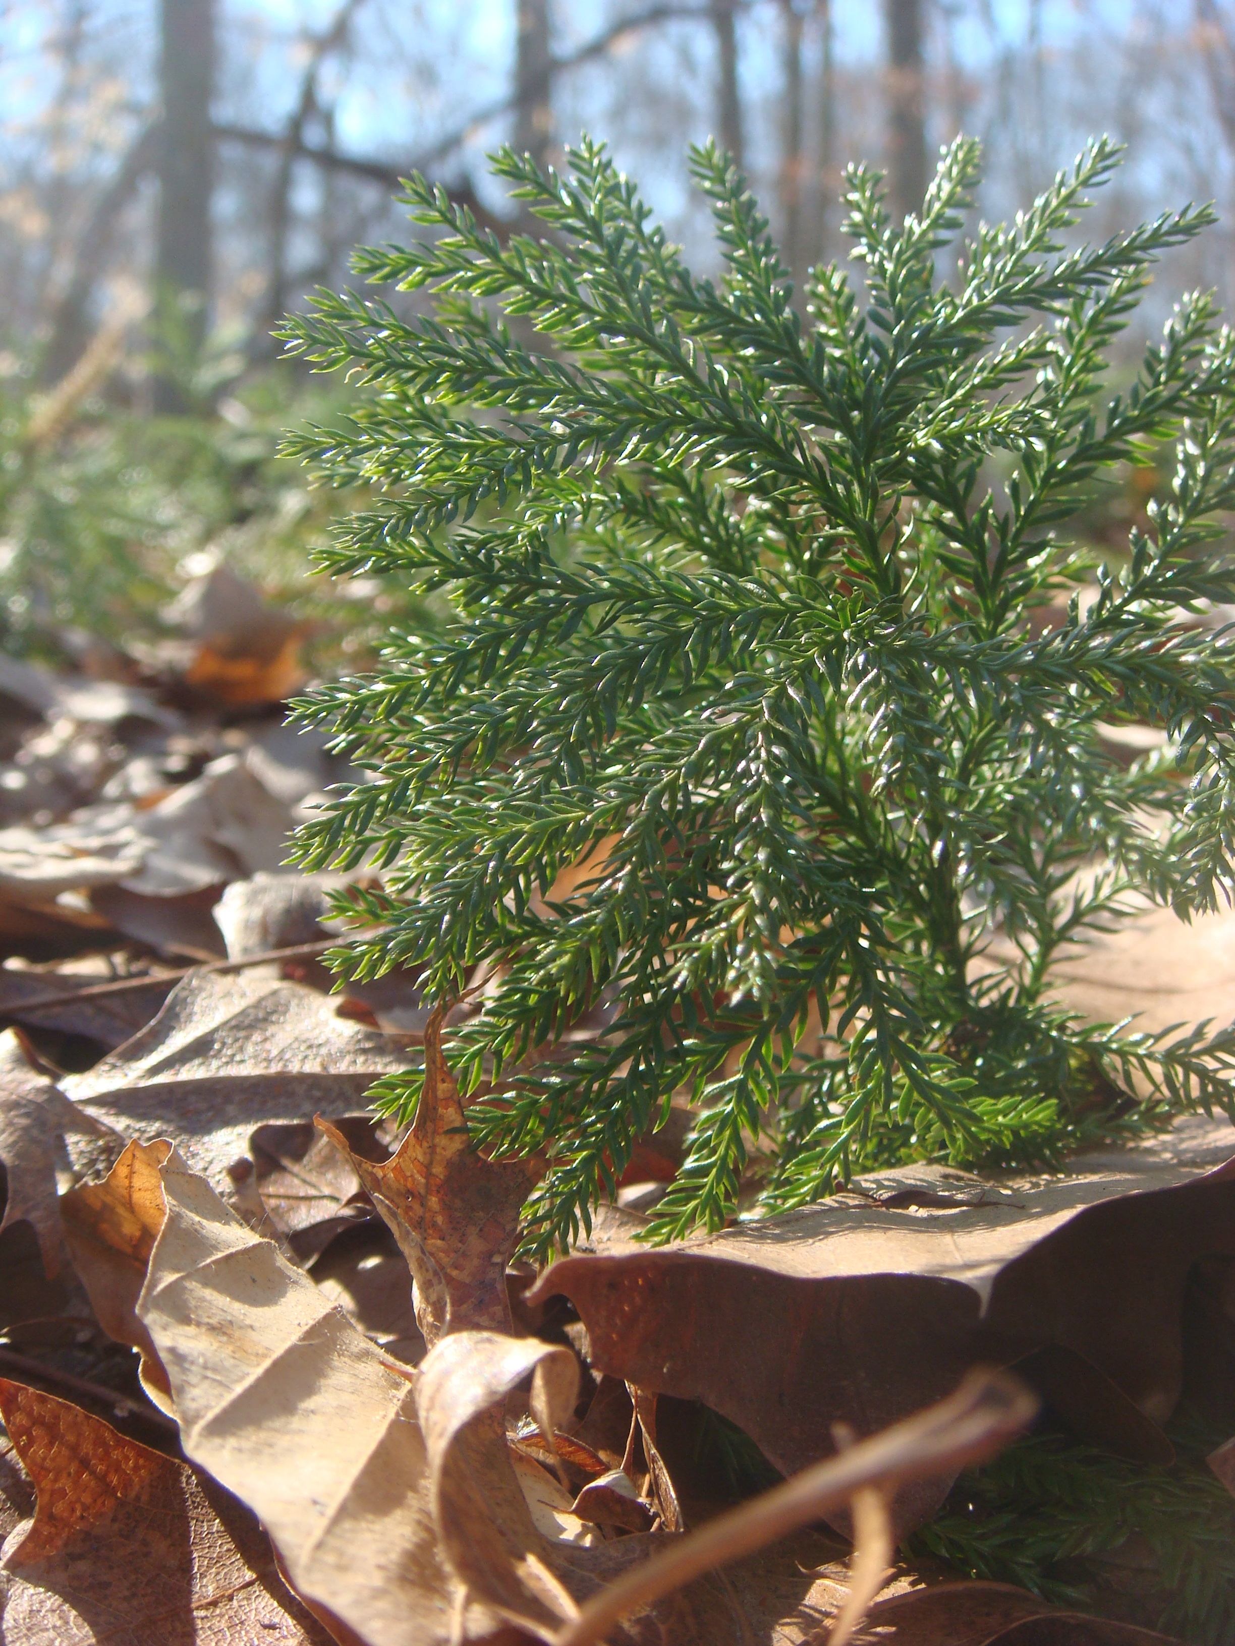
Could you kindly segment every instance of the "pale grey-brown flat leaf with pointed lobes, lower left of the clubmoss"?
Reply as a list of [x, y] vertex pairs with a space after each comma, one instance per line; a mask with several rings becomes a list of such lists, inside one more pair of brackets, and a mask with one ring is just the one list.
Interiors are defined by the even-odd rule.
[[298, 983], [252, 971], [191, 973], [155, 1021], [63, 1085], [125, 1137], [166, 1137], [214, 1187], [247, 1157], [255, 1128], [364, 1108], [379, 1075], [403, 1067], [395, 1044], [334, 1016]]

